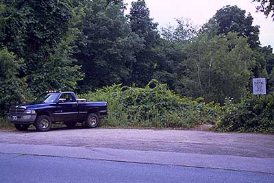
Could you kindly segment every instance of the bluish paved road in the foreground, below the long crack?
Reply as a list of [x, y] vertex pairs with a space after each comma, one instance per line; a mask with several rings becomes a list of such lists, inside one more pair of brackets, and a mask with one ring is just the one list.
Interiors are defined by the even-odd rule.
[[75, 158], [0, 154], [0, 163], [0, 182], [274, 182], [267, 173]]

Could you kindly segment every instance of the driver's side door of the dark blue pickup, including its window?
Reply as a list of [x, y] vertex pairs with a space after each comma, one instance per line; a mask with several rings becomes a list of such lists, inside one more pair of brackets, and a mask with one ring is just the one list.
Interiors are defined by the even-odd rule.
[[53, 113], [55, 121], [77, 121], [78, 106], [75, 97], [71, 93], [63, 93], [60, 99], [64, 102], [59, 102]]

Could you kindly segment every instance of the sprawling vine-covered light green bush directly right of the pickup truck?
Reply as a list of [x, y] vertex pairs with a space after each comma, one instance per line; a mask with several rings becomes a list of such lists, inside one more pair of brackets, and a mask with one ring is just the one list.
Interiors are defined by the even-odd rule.
[[145, 88], [106, 86], [79, 95], [92, 101], [108, 102], [108, 126], [119, 127], [193, 127], [219, 119], [220, 106], [203, 99], [180, 98], [152, 80]]

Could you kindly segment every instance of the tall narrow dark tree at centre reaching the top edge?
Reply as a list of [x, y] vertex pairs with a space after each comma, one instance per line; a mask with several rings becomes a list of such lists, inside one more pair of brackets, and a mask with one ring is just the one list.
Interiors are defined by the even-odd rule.
[[160, 40], [157, 30], [158, 23], [153, 23], [153, 19], [149, 17], [149, 8], [143, 0], [132, 2], [132, 8], [127, 17], [132, 32], [138, 34], [144, 40], [145, 45], [139, 52], [134, 54], [136, 62], [132, 66], [130, 83], [145, 86], [152, 79], [159, 58], [156, 48]]

